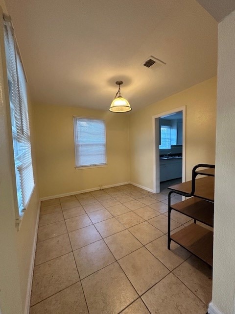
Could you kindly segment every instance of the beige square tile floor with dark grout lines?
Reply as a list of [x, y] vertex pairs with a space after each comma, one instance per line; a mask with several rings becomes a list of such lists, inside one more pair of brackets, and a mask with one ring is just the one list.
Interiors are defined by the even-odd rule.
[[211, 269], [167, 250], [165, 200], [127, 184], [43, 201], [30, 314], [205, 314]]

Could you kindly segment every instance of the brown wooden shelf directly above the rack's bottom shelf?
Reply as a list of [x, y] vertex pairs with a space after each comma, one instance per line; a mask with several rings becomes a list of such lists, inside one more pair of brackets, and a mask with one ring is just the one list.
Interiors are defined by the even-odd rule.
[[211, 202], [191, 197], [186, 201], [171, 205], [171, 208], [213, 227], [214, 204]]

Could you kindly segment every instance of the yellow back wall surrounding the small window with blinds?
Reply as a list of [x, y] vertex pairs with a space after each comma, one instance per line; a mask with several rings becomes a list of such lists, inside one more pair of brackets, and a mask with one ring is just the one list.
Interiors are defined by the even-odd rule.
[[[104, 119], [107, 166], [75, 169], [73, 116]], [[40, 197], [129, 182], [129, 115], [34, 105]]]

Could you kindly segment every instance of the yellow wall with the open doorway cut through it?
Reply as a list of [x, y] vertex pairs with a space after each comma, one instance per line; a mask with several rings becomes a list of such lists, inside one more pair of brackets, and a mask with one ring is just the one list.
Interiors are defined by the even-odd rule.
[[149, 105], [130, 115], [131, 182], [153, 189], [152, 117], [186, 105], [186, 180], [197, 163], [214, 163], [216, 78]]

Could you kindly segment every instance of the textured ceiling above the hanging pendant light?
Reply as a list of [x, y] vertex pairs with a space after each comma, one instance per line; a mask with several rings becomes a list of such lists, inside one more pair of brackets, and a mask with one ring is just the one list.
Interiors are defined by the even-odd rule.
[[134, 111], [216, 75], [217, 22], [196, 0], [5, 2], [34, 103], [107, 110], [123, 80]]

